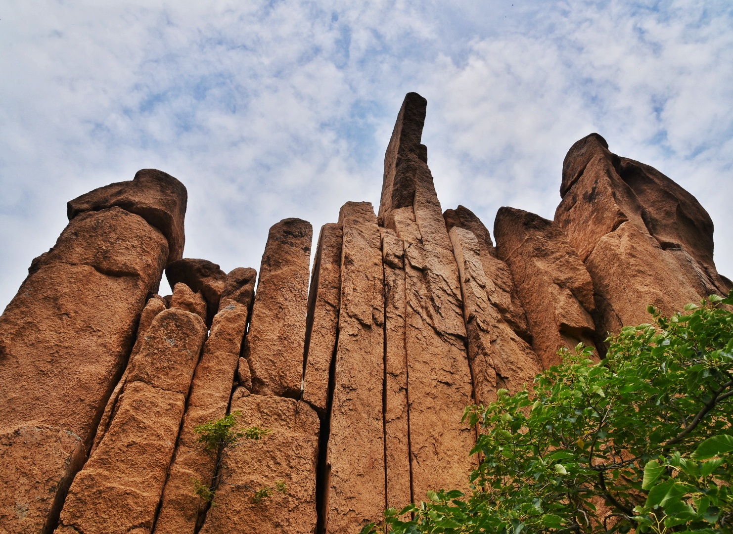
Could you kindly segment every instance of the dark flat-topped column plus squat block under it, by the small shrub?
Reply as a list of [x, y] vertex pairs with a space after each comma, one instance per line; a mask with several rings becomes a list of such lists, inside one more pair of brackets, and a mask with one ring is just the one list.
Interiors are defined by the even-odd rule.
[[[271, 434], [243, 440], [226, 456], [218, 473], [224, 483], [216, 489], [216, 506], [207, 512], [202, 534], [315, 530], [320, 421], [309, 404], [295, 400], [303, 377], [311, 239], [311, 225], [301, 219], [284, 219], [270, 229], [245, 338], [248, 366], [240, 362], [239, 370], [241, 382], [245, 369], [251, 370], [251, 390], [237, 387], [229, 410], [240, 413], [241, 426]], [[287, 492], [254, 500], [254, 492], [278, 482]]]

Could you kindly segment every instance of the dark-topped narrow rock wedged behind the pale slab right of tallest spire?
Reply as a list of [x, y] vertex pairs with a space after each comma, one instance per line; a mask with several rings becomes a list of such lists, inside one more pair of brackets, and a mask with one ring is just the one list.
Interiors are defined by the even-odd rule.
[[512, 280], [512, 273], [509, 272], [507, 264], [496, 256], [496, 248], [484, 223], [476, 217], [474, 212], [461, 205], [456, 209], [446, 209], [443, 212], [443, 218], [446, 220], [448, 231], [457, 226], [471, 231], [476, 236], [481, 263], [486, 275], [485, 291], [490, 303], [498, 309], [512, 330], [531, 344], [532, 336], [529, 333], [526, 313]]

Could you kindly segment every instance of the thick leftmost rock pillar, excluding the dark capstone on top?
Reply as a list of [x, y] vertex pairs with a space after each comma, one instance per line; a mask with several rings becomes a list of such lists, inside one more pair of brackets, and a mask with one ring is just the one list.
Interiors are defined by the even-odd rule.
[[139, 215], [78, 215], [0, 317], [0, 524], [51, 528], [122, 374], [168, 244]]

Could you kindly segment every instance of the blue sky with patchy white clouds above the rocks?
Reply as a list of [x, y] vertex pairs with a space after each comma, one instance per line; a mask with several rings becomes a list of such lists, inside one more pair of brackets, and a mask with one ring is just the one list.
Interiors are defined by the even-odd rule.
[[279, 220], [378, 206], [410, 91], [443, 209], [553, 218], [597, 132], [696, 196], [733, 278], [730, 1], [4, 0], [0, 309], [66, 202], [140, 168], [188, 188], [185, 257], [259, 270]]

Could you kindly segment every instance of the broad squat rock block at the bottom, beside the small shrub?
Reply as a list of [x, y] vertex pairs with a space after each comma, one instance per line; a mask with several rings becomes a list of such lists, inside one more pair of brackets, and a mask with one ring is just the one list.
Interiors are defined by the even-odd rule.
[[[243, 440], [226, 457], [226, 483], [217, 490], [217, 505], [207, 513], [201, 533], [314, 533], [317, 413], [302, 401], [260, 395], [233, 400], [232, 412], [237, 410], [243, 426], [271, 433], [262, 440]], [[273, 489], [254, 502], [255, 491], [278, 482], [284, 483], [284, 493]]]

